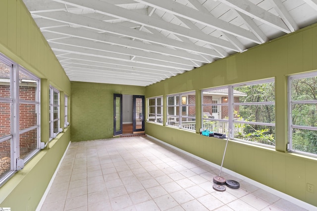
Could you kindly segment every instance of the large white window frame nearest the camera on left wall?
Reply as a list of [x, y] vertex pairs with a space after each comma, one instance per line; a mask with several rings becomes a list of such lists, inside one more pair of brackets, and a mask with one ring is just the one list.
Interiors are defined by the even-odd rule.
[[[10, 79], [7, 81], [10, 84], [10, 98], [0, 98], [0, 102], [4, 103], [10, 103], [11, 109], [10, 109], [10, 122], [11, 122], [11, 134], [5, 135], [0, 137], [0, 142], [11, 140], [10, 143], [10, 169], [8, 172], [2, 174], [0, 176], [0, 186], [3, 185], [9, 178], [13, 176], [13, 174], [17, 170], [23, 169], [24, 165], [29, 162], [41, 149], [41, 138], [40, 138], [40, 120], [41, 120], [41, 114], [40, 114], [40, 93], [41, 93], [41, 84], [40, 79], [33, 74], [31, 74], [29, 71], [21, 67], [18, 63], [13, 62], [11, 59], [7, 58], [3, 54], [0, 53], [0, 62], [3, 64], [8, 65], [11, 67], [10, 70]], [[35, 92], [36, 99], [35, 101], [28, 101], [19, 99], [19, 72], [23, 72], [23, 74], [29, 76], [32, 78], [32, 83], [36, 82], [37, 89]], [[25, 103], [25, 104], [35, 104], [36, 105], [36, 118], [37, 122], [36, 125], [21, 129], [19, 128], [19, 104]], [[19, 135], [23, 134], [25, 132], [28, 132], [30, 130], [36, 129], [37, 130], [37, 137], [36, 137], [36, 149], [29, 152], [24, 159], [20, 159], [20, 146], [19, 146]]]

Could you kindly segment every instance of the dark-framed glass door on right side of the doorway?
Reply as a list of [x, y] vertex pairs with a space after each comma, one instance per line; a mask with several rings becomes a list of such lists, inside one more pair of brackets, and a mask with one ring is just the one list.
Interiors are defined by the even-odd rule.
[[133, 95], [133, 132], [144, 131], [144, 96]]

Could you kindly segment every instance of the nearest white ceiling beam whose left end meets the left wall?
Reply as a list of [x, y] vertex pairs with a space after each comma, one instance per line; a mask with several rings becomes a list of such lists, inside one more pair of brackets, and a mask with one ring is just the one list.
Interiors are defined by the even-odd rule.
[[[99, 21], [93, 18], [85, 17], [82, 15], [71, 14], [68, 12], [44, 12], [37, 13], [33, 16], [47, 18], [53, 21], [59, 21], [62, 23], [75, 24], [89, 29], [100, 30], [108, 32], [111, 34], [126, 36], [138, 40], [145, 40], [147, 42], [154, 42], [157, 44], [167, 45], [183, 50], [190, 50], [206, 55], [219, 56], [217, 52], [206, 47], [200, 47], [194, 43], [184, 43], [180, 41], [175, 41], [169, 38], [161, 38], [159, 36], [153, 35], [151, 33], [146, 33], [143, 31], [138, 31], [135, 29], [130, 29], [122, 27], [116, 24], [107, 23], [104, 21]], [[229, 42], [228, 42], [229, 43]], [[230, 43], [231, 44], [231, 43]], [[232, 45], [233, 46], [233, 45]], [[233, 46], [234, 47], [234, 46]]]

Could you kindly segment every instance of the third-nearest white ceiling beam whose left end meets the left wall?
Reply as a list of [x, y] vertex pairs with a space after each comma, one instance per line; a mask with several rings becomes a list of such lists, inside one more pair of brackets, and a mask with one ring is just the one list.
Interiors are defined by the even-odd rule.
[[[106, 52], [113, 52], [123, 55], [130, 55], [130, 56], [137, 56], [137, 57], [143, 57], [143, 58], [149, 58], [154, 59], [162, 62], [171, 62], [175, 64], [183, 64], [188, 66], [194, 66], [195, 64], [191, 62], [190, 60], [181, 59], [177, 57], [172, 56], [166, 56], [159, 53], [149, 53], [144, 50], [139, 49], [133, 49], [133, 48], [126, 48], [122, 46], [117, 45], [110, 45], [103, 42], [94, 42], [90, 40], [84, 40], [81, 38], [65, 38], [65, 39], [58, 39], [51, 41], [53, 43], [59, 43], [59, 44], [65, 44], [65, 45], [71, 45], [71, 46], [78, 46], [78, 47], [84, 47], [94, 50], [101, 50]], [[50, 42], [50, 43], [51, 43]]]

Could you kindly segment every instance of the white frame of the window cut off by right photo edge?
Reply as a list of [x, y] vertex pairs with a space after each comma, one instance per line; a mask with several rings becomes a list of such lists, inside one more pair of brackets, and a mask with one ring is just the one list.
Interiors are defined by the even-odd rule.
[[297, 153], [301, 155], [306, 155], [310, 157], [315, 157], [317, 158], [317, 154], [310, 153], [310, 152], [305, 152], [305, 151], [300, 151], [296, 150], [293, 148], [293, 129], [306, 129], [306, 130], [314, 130], [317, 131], [317, 127], [311, 127], [311, 126], [299, 126], [299, 125], [293, 125], [292, 123], [292, 107], [293, 105], [296, 104], [317, 104], [317, 100], [297, 100], [293, 101], [291, 96], [292, 96], [292, 80], [293, 79], [305, 79], [305, 78], [312, 78], [312, 77], [317, 77], [317, 72], [312, 72], [312, 73], [304, 73], [304, 74], [297, 74], [297, 75], [292, 75], [288, 76], [287, 80], [287, 87], [288, 87], [288, 144], [287, 144], [287, 150], [292, 153]]

